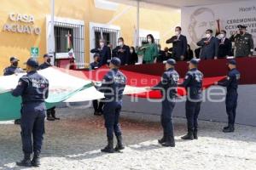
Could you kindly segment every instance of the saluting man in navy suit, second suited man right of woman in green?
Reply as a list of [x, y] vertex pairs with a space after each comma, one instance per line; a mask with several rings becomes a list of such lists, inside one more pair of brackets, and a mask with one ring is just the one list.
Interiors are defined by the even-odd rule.
[[206, 31], [206, 37], [202, 38], [197, 45], [201, 47], [200, 59], [217, 59], [218, 38], [212, 36], [212, 30]]

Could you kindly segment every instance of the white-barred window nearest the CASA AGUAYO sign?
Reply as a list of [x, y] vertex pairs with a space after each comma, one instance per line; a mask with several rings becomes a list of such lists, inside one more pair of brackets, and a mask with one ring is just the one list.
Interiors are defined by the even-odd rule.
[[55, 53], [67, 53], [71, 48], [76, 65], [84, 68], [84, 26], [55, 22]]

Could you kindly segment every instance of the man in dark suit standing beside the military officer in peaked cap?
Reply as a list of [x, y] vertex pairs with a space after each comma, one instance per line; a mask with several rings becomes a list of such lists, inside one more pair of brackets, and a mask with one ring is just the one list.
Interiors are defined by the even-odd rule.
[[223, 59], [227, 56], [230, 56], [232, 53], [232, 42], [229, 38], [226, 37], [227, 32], [222, 30], [220, 31], [219, 37], [219, 46], [218, 46], [218, 59]]

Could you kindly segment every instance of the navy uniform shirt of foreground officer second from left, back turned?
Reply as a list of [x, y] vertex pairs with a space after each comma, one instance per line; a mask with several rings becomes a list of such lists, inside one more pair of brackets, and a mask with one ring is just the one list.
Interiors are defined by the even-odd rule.
[[98, 90], [110, 101], [120, 101], [123, 97], [127, 78], [118, 69], [112, 69], [103, 77], [102, 86]]

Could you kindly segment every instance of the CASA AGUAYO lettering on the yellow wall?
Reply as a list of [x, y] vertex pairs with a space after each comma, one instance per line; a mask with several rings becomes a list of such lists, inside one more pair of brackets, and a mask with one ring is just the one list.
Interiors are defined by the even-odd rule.
[[35, 17], [29, 14], [9, 14], [9, 22], [3, 25], [3, 31], [39, 35], [41, 28], [35, 25]]

